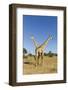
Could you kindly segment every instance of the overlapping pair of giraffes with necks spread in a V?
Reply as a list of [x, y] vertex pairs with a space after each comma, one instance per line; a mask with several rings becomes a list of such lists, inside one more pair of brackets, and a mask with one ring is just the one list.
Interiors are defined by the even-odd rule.
[[43, 55], [44, 55], [44, 49], [46, 48], [48, 42], [52, 39], [52, 37], [49, 35], [47, 40], [45, 40], [41, 45], [38, 45], [32, 36], [31, 38], [34, 42], [35, 46], [35, 60], [36, 60], [36, 66], [39, 65], [39, 59], [41, 58], [41, 64], [43, 64]]

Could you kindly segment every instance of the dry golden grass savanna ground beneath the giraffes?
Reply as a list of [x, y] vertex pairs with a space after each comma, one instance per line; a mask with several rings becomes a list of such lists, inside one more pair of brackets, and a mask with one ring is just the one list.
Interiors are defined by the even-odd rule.
[[57, 73], [57, 56], [44, 56], [42, 65], [35, 66], [35, 62], [36, 61], [33, 56], [28, 56], [27, 58], [23, 59], [24, 75]]

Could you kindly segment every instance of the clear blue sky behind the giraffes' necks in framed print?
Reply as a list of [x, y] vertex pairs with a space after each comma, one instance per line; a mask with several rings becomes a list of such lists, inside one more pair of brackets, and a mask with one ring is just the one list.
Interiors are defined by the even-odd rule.
[[31, 40], [33, 35], [38, 44], [42, 44], [49, 35], [53, 37], [49, 41], [45, 52], [57, 53], [57, 17], [56, 16], [23, 16], [24, 48], [28, 53], [34, 54], [34, 44]]

